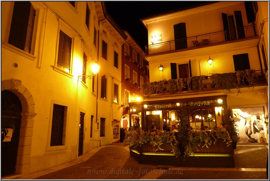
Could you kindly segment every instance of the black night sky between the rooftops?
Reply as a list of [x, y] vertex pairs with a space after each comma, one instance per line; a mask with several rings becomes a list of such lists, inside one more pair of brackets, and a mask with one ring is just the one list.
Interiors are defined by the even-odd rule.
[[[128, 31], [145, 51], [148, 45], [147, 29], [140, 18], [178, 10], [205, 3], [207, 1], [105, 1], [109, 15], [121, 29]], [[212, 1], [213, 2], [213, 1]]]

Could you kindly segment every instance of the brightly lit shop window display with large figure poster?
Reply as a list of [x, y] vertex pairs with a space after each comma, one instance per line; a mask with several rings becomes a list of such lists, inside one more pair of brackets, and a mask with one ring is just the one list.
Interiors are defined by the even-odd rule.
[[232, 109], [236, 131], [240, 136], [239, 143], [267, 143], [268, 119], [263, 107]]

